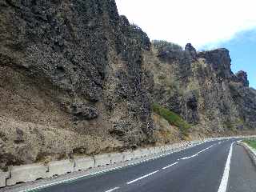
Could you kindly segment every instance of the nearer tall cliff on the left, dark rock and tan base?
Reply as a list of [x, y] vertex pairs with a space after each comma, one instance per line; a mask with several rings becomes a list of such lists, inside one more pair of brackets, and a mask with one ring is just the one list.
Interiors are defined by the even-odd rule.
[[1, 0], [0, 167], [150, 142], [142, 50], [113, 0]]

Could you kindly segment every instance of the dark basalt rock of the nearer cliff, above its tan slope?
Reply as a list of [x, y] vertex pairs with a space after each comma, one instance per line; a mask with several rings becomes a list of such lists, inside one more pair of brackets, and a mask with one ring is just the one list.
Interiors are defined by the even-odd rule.
[[[134, 114], [123, 105], [123, 114], [118, 115], [128, 115], [126, 129], [138, 132], [129, 136], [136, 137], [130, 139], [136, 145], [150, 137], [153, 128], [148, 126], [152, 121], [147, 91], [154, 81], [142, 67], [142, 51], [150, 50], [150, 39], [118, 15], [113, 0], [6, 0], [0, 6], [2, 66], [21, 71], [38, 86], [47, 82], [47, 88], [60, 91], [65, 97], [50, 97], [64, 111], [70, 109], [67, 112], [76, 121], [93, 121], [100, 114], [120, 110], [115, 109], [118, 103], [134, 103]], [[42, 90], [45, 85], [40, 85]], [[70, 105], [74, 101], [88, 105]], [[112, 129], [114, 124], [109, 121]]]

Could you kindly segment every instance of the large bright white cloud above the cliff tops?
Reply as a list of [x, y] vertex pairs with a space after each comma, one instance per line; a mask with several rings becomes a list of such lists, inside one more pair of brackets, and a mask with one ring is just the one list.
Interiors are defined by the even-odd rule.
[[116, 0], [119, 14], [150, 39], [197, 48], [229, 40], [256, 27], [255, 0]]

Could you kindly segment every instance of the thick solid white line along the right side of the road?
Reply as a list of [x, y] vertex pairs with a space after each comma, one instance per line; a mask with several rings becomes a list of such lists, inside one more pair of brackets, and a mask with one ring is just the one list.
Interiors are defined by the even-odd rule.
[[218, 187], [218, 192], [226, 192], [227, 182], [229, 181], [230, 162], [231, 162], [233, 144], [234, 144], [234, 142], [232, 142], [232, 144], [230, 146], [230, 153], [226, 159], [226, 166], [225, 166], [224, 173], [222, 176], [222, 182], [221, 182], [220, 186]]

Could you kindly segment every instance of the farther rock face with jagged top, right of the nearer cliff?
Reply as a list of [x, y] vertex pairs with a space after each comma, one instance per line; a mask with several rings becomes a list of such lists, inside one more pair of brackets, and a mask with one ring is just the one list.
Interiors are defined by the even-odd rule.
[[236, 132], [256, 127], [256, 94], [245, 72], [234, 75], [226, 49], [146, 54], [154, 72], [154, 102], [181, 114], [202, 133]]

